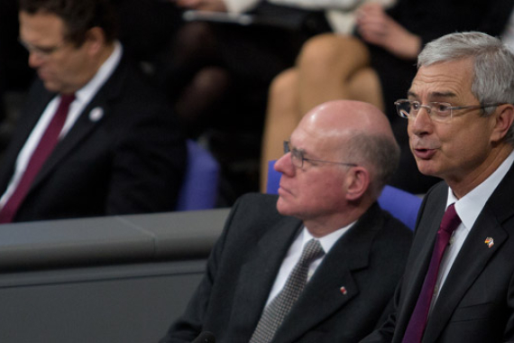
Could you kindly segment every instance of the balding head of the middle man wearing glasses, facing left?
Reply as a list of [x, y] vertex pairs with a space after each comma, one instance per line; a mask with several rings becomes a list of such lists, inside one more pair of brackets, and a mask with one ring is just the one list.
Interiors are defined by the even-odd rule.
[[360, 218], [394, 172], [399, 148], [386, 116], [372, 105], [330, 101], [303, 117], [275, 163], [277, 209], [324, 236]]

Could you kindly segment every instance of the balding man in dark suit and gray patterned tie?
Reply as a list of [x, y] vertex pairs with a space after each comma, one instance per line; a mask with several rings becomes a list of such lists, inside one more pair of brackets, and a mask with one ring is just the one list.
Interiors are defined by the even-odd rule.
[[380, 321], [411, 239], [376, 202], [399, 158], [388, 119], [370, 104], [328, 102], [303, 118], [284, 153], [278, 199], [236, 202], [162, 342], [212, 331], [226, 343], [350, 343]]

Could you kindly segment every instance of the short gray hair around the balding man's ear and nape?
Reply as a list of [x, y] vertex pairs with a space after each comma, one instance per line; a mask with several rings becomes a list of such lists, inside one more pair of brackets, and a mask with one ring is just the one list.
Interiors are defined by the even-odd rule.
[[372, 194], [377, 198], [399, 165], [399, 145], [385, 134], [355, 133], [344, 149], [347, 161], [372, 167]]

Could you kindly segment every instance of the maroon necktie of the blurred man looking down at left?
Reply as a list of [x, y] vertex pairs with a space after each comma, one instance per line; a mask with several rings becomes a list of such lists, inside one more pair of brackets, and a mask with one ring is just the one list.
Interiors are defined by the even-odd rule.
[[41, 166], [46, 161], [59, 140], [60, 131], [62, 130], [62, 126], [68, 116], [69, 105], [74, 99], [75, 95], [73, 94], [60, 96], [59, 107], [57, 107], [55, 114], [50, 120], [50, 124], [42, 134], [40, 142], [34, 149], [18, 186], [11, 197], [5, 202], [5, 206], [0, 210], [0, 224], [10, 223], [13, 221], [17, 210], [20, 208], [23, 199], [25, 199], [25, 196], [31, 188], [32, 181], [41, 170]]

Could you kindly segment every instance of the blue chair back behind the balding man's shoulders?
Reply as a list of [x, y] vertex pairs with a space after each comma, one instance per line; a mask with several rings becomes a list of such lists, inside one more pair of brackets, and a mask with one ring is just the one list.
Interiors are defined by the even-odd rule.
[[[266, 192], [269, 194], [277, 194], [280, 187], [281, 173], [273, 169], [275, 162], [268, 162]], [[388, 185], [382, 190], [378, 202], [382, 209], [389, 211], [393, 217], [399, 219], [410, 229], [413, 230], [416, 227], [418, 210], [421, 206], [421, 199], [418, 196]]]

